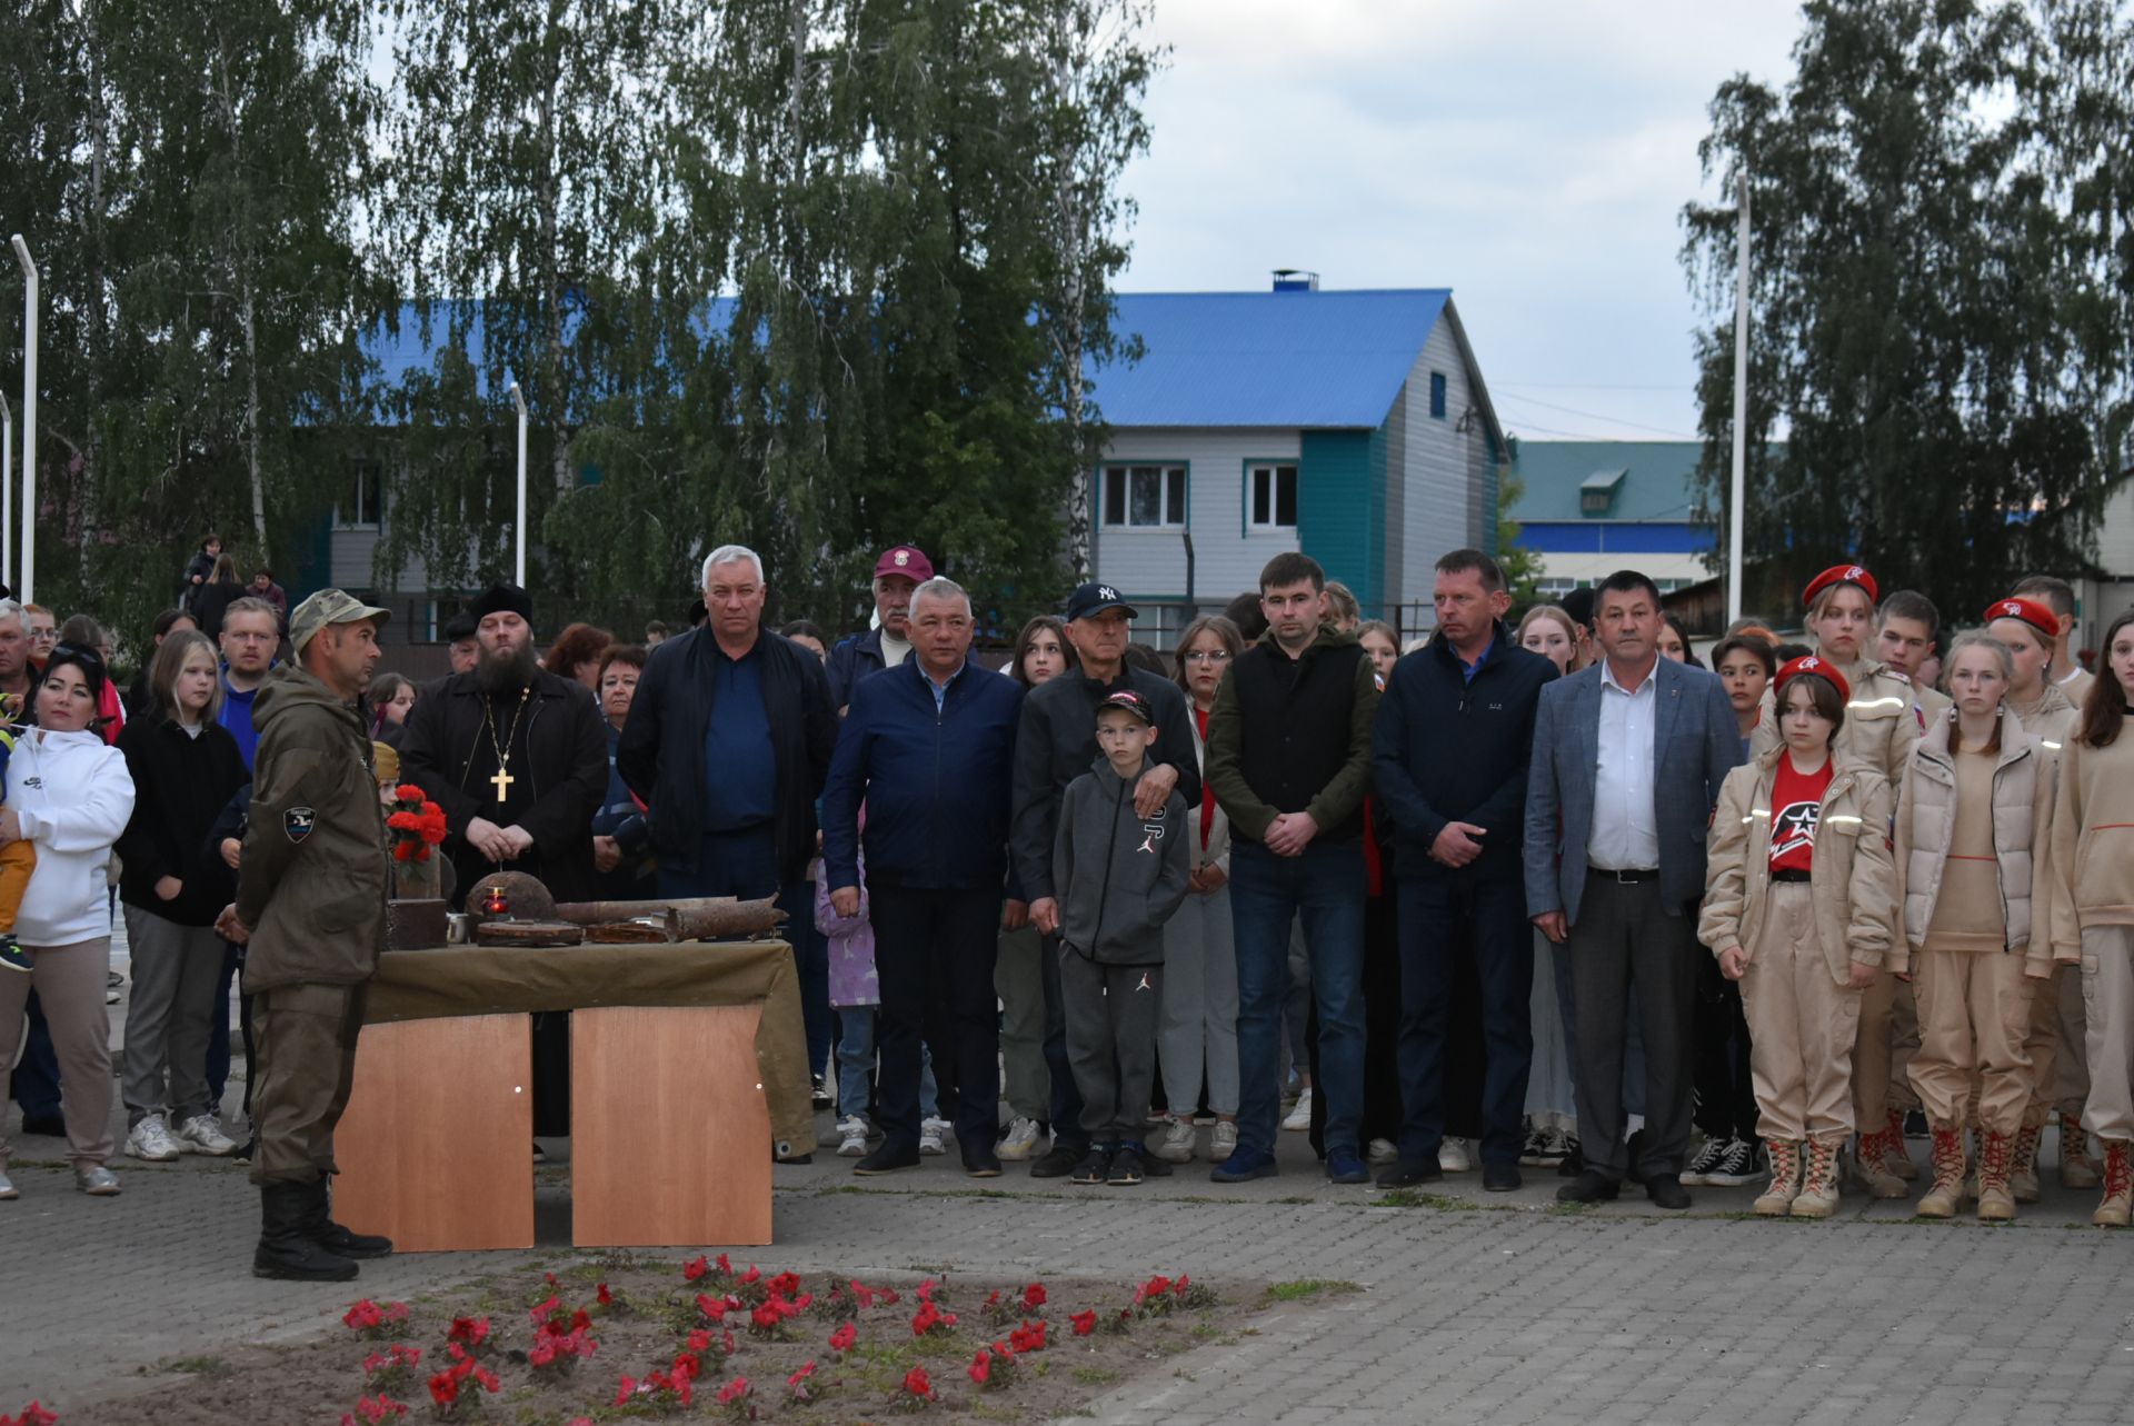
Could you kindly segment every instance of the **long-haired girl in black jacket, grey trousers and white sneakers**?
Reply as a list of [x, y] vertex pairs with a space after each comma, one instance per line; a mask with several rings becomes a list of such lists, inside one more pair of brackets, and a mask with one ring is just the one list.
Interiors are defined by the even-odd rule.
[[228, 886], [211, 865], [207, 833], [248, 773], [237, 739], [216, 722], [222, 675], [205, 634], [162, 640], [149, 692], [154, 709], [120, 732], [134, 779], [132, 820], [117, 841], [134, 976], [120, 1087], [126, 1153], [228, 1155], [237, 1142], [222, 1131], [207, 1089], [207, 1037], [222, 982], [213, 922]]

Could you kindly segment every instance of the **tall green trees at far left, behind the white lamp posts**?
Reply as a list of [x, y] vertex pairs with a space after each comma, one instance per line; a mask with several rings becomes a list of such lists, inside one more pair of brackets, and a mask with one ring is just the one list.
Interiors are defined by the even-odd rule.
[[[43, 269], [41, 602], [139, 630], [209, 527], [286, 570], [367, 425], [361, 0], [0, 11], [4, 226]], [[13, 269], [13, 265], [11, 265]], [[13, 303], [0, 303], [13, 307]], [[19, 350], [19, 316], [0, 350]], [[13, 361], [9, 361], [13, 365]]]

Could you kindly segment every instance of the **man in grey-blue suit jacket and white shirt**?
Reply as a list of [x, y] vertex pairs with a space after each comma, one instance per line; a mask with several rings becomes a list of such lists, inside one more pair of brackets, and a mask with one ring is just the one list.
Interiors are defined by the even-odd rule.
[[[1637, 1168], [1662, 1208], [1688, 1208], [1690, 1016], [1705, 830], [1741, 760], [1716, 677], [1660, 657], [1660, 591], [1635, 570], [1594, 593], [1605, 657], [1541, 690], [1526, 790], [1526, 912], [1568, 946], [1573, 1078], [1586, 1172], [1566, 1202], [1615, 1198]], [[1645, 1138], [1624, 1142], [1622, 1057], [1630, 995], [1645, 1042]]]

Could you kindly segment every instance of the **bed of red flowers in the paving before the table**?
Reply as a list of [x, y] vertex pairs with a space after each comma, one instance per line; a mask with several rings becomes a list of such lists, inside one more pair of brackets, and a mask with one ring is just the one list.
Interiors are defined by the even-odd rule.
[[188, 1358], [196, 1375], [181, 1385], [79, 1409], [53, 1392], [43, 1407], [58, 1426], [1037, 1422], [1229, 1336], [1253, 1311], [1187, 1277], [802, 1279], [728, 1255], [606, 1255], [344, 1306], [322, 1341]]

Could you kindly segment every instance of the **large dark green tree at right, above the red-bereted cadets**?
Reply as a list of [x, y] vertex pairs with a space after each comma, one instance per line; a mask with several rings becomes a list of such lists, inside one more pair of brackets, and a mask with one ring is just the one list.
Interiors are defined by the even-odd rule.
[[[2115, 0], [1814, 0], [1797, 77], [1720, 85], [1750, 175], [1748, 604], [1859, 557], [1974, 608], [2074, 570], [2134, 463], [2134, 21]], [[1733, 209], [1684, 209], [1701, 517], [1724, 514]], [[1784, 444], [1773, 444], [1784, 442]]]

